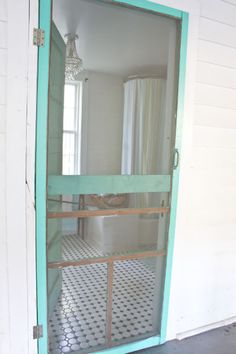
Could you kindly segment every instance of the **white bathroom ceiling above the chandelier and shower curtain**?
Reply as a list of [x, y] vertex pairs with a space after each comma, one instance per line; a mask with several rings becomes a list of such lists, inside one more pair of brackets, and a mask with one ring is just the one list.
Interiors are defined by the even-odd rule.
[[130, 75], [166, 72], [174, 20], [91, 0], [54, 0], [61, 35], [79, 35], [77, 49], [87, 70]]

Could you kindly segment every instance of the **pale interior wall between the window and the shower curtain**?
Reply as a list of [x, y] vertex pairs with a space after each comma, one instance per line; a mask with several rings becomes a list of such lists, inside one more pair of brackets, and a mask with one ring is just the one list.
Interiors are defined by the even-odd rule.
[[[89, 72], [84, 104], [87, 105], [86, 174], [121, 173], [124, 89], [123, 78], [99, 72]], [[86, 109], [86, 108], [85, 108]], [[83, 128], [82, 128], [83, 129]], [[83, 131], [84, 133], [84, 131]]]

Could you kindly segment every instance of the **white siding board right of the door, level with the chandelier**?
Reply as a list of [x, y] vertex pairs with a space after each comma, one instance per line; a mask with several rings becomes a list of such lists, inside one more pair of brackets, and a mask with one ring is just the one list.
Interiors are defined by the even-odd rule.
[[236, 48], [199, 40], [198, 59], [229, 68], [236, 68]]

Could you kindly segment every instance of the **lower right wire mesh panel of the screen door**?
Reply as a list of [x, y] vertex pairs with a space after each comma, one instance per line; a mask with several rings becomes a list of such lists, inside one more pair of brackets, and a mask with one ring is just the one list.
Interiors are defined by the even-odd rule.
[[165, 257], [115, 262], [113, 345], [159, 334], [164, 264]]

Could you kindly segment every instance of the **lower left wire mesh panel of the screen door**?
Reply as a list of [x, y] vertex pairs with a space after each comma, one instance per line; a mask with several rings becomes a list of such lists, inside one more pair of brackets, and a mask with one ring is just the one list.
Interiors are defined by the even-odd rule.
[[63, 269], [61, 291], [49, 309], [49, 353], [88, 353], [103, 348], [106, 303], [105, 263]]

